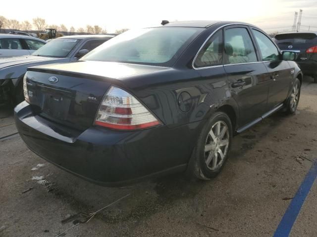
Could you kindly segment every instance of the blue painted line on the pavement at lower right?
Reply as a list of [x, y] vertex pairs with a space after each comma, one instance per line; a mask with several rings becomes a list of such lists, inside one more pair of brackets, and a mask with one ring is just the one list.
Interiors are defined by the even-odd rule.
[[291, 233], [294, 222], [302, 208], [302, 205], [311, 190], [314, 181], [317, 177], [317, 162], [313, 162], [312, 167], [308, 171], [305, 179], [295, 197], [293, 197], [291, 203], [289, 204], [281, 222], [279, 223], [273, 237], [288, 237]]

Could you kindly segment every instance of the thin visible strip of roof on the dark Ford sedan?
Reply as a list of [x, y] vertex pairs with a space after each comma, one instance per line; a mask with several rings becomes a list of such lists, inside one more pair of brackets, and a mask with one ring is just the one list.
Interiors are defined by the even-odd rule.
[[238, 21], [173, 21], [169, 22], [163, 27], [199, 27], [199, 28], [208, 28], [214, 24], [245, 24], [249, 26], [253, 26], [252, 24], [248, 24], [245, 22], [238, 22]]

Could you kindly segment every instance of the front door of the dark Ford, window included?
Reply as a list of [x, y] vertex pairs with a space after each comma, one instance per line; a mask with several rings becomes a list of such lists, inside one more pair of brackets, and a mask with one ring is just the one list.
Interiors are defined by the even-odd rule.
[[257, 42], [261, 60], [269, 73], [270, 80], [267, 111], [285, 101], [291, 83], [291, 69], [287, 61], [281, 60], [281, 55], [273, 41], [259, 29], [252, 28]]

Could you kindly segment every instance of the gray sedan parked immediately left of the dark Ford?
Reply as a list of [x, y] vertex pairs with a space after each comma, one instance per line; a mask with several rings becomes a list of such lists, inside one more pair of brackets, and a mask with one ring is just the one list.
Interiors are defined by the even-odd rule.
[[[19, 103], [24, 100], [22, 79], [28, 67], [76, 61], [112, 37], [108, 35], [60, 37], [47, 43], [30, 56], [0, 59], [0, 101], [11, 100]], [[32, 47], [31, 43], [29, 45]]]

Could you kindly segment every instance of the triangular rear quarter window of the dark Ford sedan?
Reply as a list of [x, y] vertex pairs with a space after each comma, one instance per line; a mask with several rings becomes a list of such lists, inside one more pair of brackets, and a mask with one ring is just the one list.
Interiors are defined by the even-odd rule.
[[220, 65], [222, 63], [222, 30], [216, 32], [199, 52], [196, 68]]

